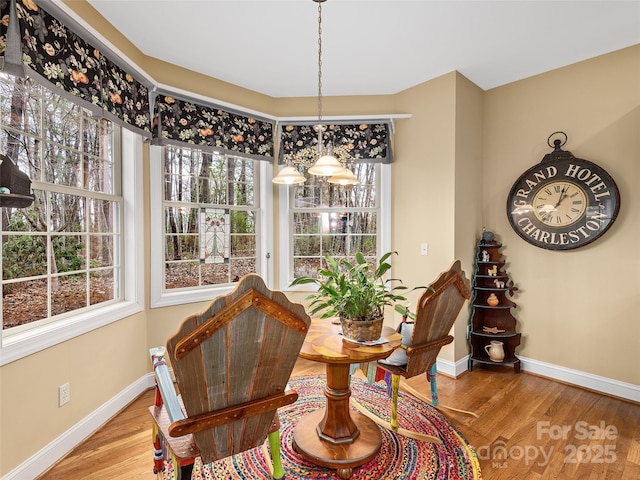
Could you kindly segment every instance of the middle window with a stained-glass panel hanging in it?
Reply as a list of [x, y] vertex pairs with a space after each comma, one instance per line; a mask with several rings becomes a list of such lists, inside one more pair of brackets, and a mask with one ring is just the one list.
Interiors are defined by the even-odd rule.
[[152, 253], [152, 306], [210, 299], [247, 273], [264, 276], [260, 179], [271, 178], [261, 172], [268, 163], [195, 148], [153, 149], [161, 152], [162, 168], [152, 159], [152, 185], [162, 191], [152, 187], [154, 200], [161, 197], [152, 201], [159, 206], [152, 228], [162, 235], [152, 242], [162, 255]]

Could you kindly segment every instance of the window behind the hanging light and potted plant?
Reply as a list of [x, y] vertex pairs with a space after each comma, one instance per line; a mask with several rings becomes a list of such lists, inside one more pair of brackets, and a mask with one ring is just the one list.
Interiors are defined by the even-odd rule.
[[280, 231], [280, 242], [288, 246], [281, 257], [280, 288], [296, 277], [317, 276], [326, 266], [326, 254], [353, 260], [362, 252], [375, 261], [388, 248], [390, 167], [357, 163], [354, 174], [359, 185], [339, 186], [305, 175], [305, 183], [281, 189], [280, 216], [288, 218], [288, 228]]

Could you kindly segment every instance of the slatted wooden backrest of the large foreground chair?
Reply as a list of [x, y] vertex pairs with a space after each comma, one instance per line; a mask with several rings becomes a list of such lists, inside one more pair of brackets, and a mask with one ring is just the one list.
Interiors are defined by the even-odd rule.
[[[311, 319], [300, 304], [246, 275], [187, 318], [167, 341], [188, 417], [284, 392]], [[211, 462], [264, 442], [275, 410], [193, 434]]]

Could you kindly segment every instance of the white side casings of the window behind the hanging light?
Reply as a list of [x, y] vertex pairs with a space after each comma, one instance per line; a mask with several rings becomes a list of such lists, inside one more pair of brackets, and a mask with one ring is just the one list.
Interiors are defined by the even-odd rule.
[[[379, 164], [379, 223], [376, 248], [378, 258], [391, 248], [391, 165]], [[294, 186], [280, 187], [278, 193], [278, 218], [280, 219], [278, 273], [279, 286], [282, 291], [315, 291], [317, 286], [312, 284], [291, 287], [293, 281], [293, 210], [291, 209], [291, 192]]]

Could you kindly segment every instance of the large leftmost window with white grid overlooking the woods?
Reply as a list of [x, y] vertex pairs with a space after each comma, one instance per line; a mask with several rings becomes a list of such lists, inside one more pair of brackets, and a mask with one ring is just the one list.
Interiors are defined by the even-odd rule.
[[[121, 183], [120, 158], [121, 145], [133, 152], [137, 136], [122, 142], [117, 126], [30, 79], [0, 76], [0, 111], [0, 151], [34, 193], [29, 206], [0, 209], [4, 362], [4, 347], [29, 331], [92, 318], [58, 337], [68, 338], [104, 324], [104, 309], [112, 313], [106, 321], [121, 318], [113, 309], [135, 297], [126, 289], [135, 277], [124, 271], [123, 188], [130, 186]], [[135, 182], [139, 175], [130, 172]]]

